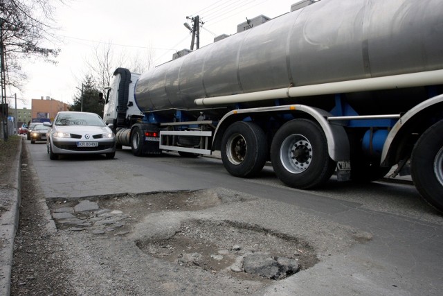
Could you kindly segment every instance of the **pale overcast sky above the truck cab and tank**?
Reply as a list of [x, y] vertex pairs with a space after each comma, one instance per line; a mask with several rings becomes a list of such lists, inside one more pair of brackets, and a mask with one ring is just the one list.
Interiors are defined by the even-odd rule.
[[[191, 34], [183, 23], [187, 16], [204, 21], [200, 47], [213, 43], [215, 36], [236, 33], [237, 24], [259, 15], [278, 17], [299, 0], [54, 0], [55, 33], [62, 42], [57, 64], [29, 60], [24, 64], [28, 81], [17, 92], [17, 108], [31, 107], [31, 99], [47, 96], [73, 103], [78, 87], [87, 75], [87, 60], [100, 44], [112, 44], [114, 54], [154, 55], [154, 66], [168, 62], [172, 54], [189, 49]], [[191, 24], [190, 21], [188, 23]], [[124, 64], [120, 67], [128, 67]], [[14, 102], [10, 101], [10, 106]]]

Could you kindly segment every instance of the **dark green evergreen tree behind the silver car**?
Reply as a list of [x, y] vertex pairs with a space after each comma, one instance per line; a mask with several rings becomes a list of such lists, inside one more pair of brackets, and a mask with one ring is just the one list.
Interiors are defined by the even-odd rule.
[[84, 78], [82, 85], [78, 87], [78, 94], [74, 97], [74, 103], [69, 110], [81, 111], [82, 110], [82, 98], [83, 98], [83, 112], [92, 112], [103, 117], [103, 102], [99, 101], [98, 93], [100, 91], [93, 82], [91, 75], [87, 75]]

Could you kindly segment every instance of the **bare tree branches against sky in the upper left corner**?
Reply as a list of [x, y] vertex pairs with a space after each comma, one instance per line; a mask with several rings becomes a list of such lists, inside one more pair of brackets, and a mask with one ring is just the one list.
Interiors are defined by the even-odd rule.
[[[57, 49], [53, 19], [54, 0], [0, 0], [0, 42], [3, 46], [5, 85], [20, 87], [26, 80], [24, 58], [55, 62]], [[58, 0], [63, 2], [63, 0]]]

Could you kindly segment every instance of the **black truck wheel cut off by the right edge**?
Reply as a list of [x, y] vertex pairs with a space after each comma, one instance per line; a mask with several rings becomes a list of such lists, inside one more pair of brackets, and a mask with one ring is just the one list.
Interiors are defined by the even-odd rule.
[[415, 143], [411, 175], [424, 200], [443, 212], [443, 121], [428, 128]]

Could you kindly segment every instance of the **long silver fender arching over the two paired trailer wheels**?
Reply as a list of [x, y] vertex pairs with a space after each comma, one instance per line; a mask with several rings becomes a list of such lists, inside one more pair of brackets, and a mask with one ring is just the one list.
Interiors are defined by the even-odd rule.
[[282, 111], [302, 112], [309, 115], [311, 119], [314, 119], [314, 121], [316, 121], [318, 125], [320, 125], [320, 128], [322, 128], [323, 132], [325, 132], [329, 157], [331, 157], [335, 162], [350, 161], [349, 140], [347, 139], [347, 134], [343, 126], [329, 123], [326, 120], [328, 116], [332, 116], [332, 114], [330, 114], [329, 112], [306, 105], [282, 105], [230, 111], [225, 114], [225, 116], [223, 116], [223, 118], [219, 121], [219, 124], [217, 125], [217, 128], [214, 132], [213, 149], [220, 147], [221, 137], [223, 137], [222, 134], [231, 123], [235, 121], [241, 121], [250, 114], [255, 114], [257, 112]]

